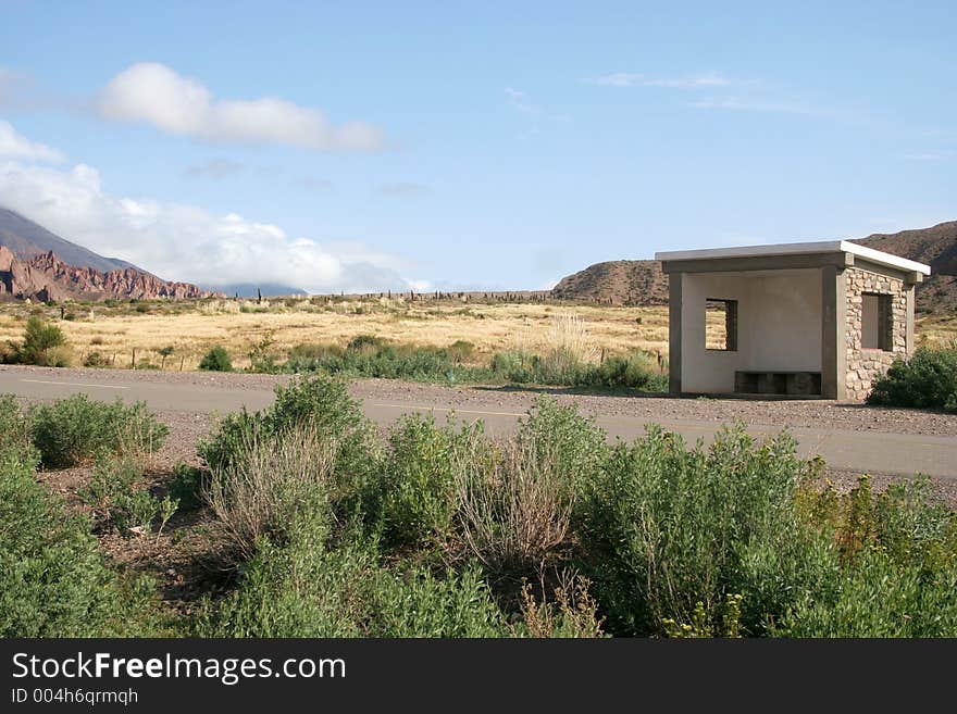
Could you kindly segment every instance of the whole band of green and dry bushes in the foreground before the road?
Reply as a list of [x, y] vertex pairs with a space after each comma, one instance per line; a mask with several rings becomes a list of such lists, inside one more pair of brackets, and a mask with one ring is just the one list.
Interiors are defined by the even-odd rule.
[[[957, 515], [920, 478], [840, 493], [786, 434], [610, 444], [543, 398], [504, 440], [415, 415], [383, 436], [315, 375], [225, 416], [161, 491], [149, 448], [91, 434], [78, 515], [37, 481], [50, 424], [80, 433], [51, 410], [38, 440], [0, 400], [4, 636], [957, 636]], [[97, 548], [190, 529], [214, 586], [189, 607]]]

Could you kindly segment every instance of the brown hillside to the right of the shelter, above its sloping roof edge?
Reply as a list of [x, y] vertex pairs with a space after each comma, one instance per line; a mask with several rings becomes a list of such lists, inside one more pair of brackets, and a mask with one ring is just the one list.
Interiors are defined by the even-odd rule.
[[930, 265], [930, 277], [917, 286], [917, 311], [957, 312], [957, 221], [918, 230], [874, 234], [854, 242]]

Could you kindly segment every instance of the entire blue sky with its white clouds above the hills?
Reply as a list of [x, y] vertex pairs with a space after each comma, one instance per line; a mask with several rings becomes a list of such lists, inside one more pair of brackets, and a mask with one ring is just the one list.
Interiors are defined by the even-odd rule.
[[164, 277], [535, 289], [957, 218], [953, 2], [0, 12], [0, 204]]

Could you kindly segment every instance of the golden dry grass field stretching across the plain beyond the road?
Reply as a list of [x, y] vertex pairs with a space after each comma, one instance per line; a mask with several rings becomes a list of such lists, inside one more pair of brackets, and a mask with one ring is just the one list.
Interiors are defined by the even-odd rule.
[[[576, 316], [593, 358], [643, 349], [668, 353], [668, 309], [582, 305], [555, 302], [502, 302], [449, 298], [288, 298], [279, 300], [203, 300], [102, 304], [0, 305], [0, 343], [18, 340], [30, 312], [41, 312], [63, 329], [83, 364], [99, 352], [107, 366], [128, 368], [134, 350], [139, 366], [196, 369], [214, 345], [225, 347], [237, 368], [264, 339], [284, 355], [299, 345], [345, 346], [357, 335], [375, 335], [397, 345], [448, 347], [474, 345], [474, 360], [485, 362], [507, 350], [544, 352], [555, 343], [564, 318]], [[709, 335], [721, 329], [722, 315], [709, 313]], [[957, 315], [917, 322], [918, 343], [957, 340]], [[173, 348], [164, 359], [163, 348]]]

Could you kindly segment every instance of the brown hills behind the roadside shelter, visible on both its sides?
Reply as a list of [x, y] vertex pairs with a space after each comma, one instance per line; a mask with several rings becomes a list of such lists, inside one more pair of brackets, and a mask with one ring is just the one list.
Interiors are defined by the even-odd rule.
[[[957, 221], [917, 230], [874, 234], [854, 242], [930, 265], [931, 276], [917, 288], [917, 311], [957, 312]], [[596, 263], [562, 278], [550, 295], [560, 300], [664, 305], [668, 276], [658, 261]]]

